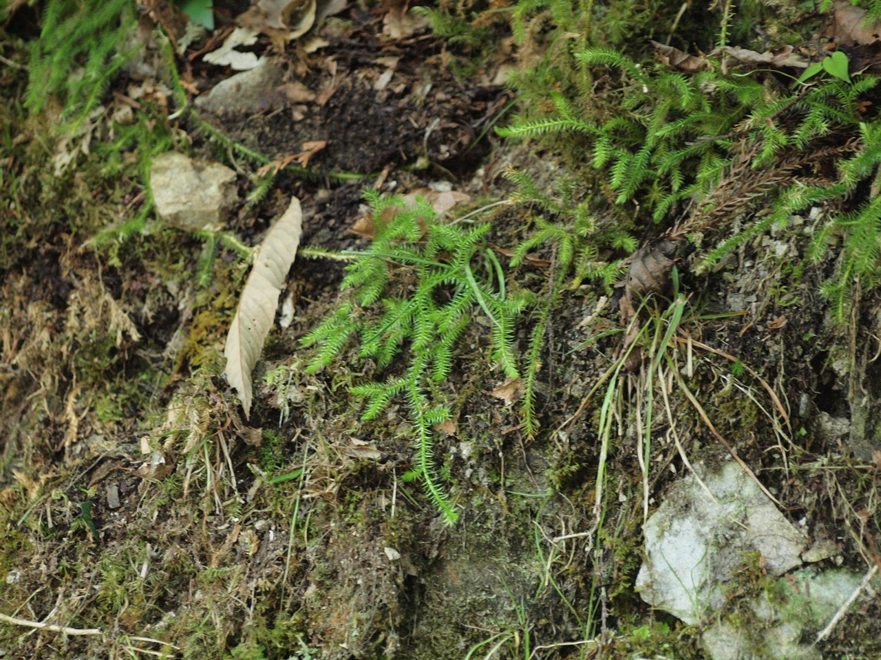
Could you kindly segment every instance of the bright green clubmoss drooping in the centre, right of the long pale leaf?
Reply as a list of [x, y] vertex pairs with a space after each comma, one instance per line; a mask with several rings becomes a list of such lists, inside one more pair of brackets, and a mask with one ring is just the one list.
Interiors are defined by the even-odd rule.
[[[365, 197], [373, 210], [373, 244], [352, 253], [343, 304], [301, 340], [317, 347], [307, 371], [333, 363], [357, 339], [359, 357], [374, 360], [387, 374], [382, 382], [350, 388], [365, 401], [362, 419], [376, 418], [392, 400], [403, 398], [415, 445], [405, 478], [420, 481], [445, 521], [453, 524], [458, 514], [433, 459], [433, 427], [452, 414], [439, 402], [438, 385], [452, 369], [456, 342], [480, 312], [492, 326], [492, 360], [507, 378], [519, 378], [515, 320], [533, 297], [506, 288], [499, 260], [485, 245], [490, 224], [442, 224], [425, 201], [406, 209], [400, 197], [372, 191]], [[405, 366], [393, 366], [393, 361], [402, 363], [400, 356]]]

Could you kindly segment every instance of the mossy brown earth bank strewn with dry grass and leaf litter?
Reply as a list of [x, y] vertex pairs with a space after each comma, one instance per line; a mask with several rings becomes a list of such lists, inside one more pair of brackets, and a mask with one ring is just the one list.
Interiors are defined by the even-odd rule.
[[[560, 276], [564, 244], [550, 239], [512, 265], [541, 218], [571, 224], [582, 202], [603, 226], [626, 222], [639, 247], [667, 228], [616, 203], [580, 137], [496, 135], [527, 96], [506, 81], [543, 56], [507, 26], [487, 21], [493, 46], [481, 50], [403, 5], [341, 4], [298, 40], [263, 33], [240, 47], [270, 74], [211, 101], [236, 72], [204, 55], [244, 8], [218, 3], [217, 30], [173, 55], [169, 74], [157, 26], [174, 33], [173, 20], [151, 6], [136, 58], [63, 136], [63, 100], [25, 107], [40, 13], [5, 18], [0, 657], [702, 658], [719, 620], [759, 638], [752, 656], [777, 657], [750, 598], [799, 587], [761, 554], [743, 554], [724, 605], [697, 622], [636, 589], [648, 515], [735, 455], [805, 550], [827, 549], [804, 561], [868, 576], [816, 645], [829, 618], [798, 629], [803, 657], [881, 654], [870, 583], [881, 565], [878, 297], [857, 284], [848, 322], [836, 322], [820, 290], [838, 253], [807, 259], [822, 218], [874, 184], [699, 268], [705, 246], [767, 215], [771, 202], [751, 199], [668, 254], [673, 275], [647, 265], [663, 282], [628, 312], [626, 268], [652, 250], [592, 257], [622, 260], [620, 282]], [[667, 30], [676, 11], [657, 11]], [[221, 233], [154, 212], [149, 172], [167, 150], [233, 171]], [[841, 146], [834, 158], [848, 156]], [[834, 171], [809, 160], [799, 166], [812, 175]], [[529, 186], [556, 215], [529, 202]], [[475, 271], [500, 263], [508, 290], [531, 296], [511, 336], [517, 378], [500, 368], [481, 301], [448, 375], [426, 386], [450, 411], [431, 429], [429, 460], [455, 524], [405, 479], [422, 448], [406, 397], [364, 421], [348, 389], [403, 374], [415, 340], [384, 367], [350, 341], [306, 370], [315, 348], [300, 340], [345, 299], [346, 264], [376, 231], [365, 189], [420, 195], [439, 222], [489, 223]], [[236, 241], [259, 245], [294, 196], [312, 252], [287, 275], [246, 414], [223, 375], [249, 267]], [[416, 290], [417, 270], [393, 281]], [[522, 406], [530, 362], [535, 433]]]

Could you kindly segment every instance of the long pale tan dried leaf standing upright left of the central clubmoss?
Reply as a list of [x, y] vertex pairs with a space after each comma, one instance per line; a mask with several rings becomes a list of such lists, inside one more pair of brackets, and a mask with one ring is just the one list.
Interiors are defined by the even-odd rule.
[[285, 276], [300, 245], [302, 226], [300, 200], [293, 197], [285, 215], [263, 238], [248, 282], [241, 292], [233, 325], [226, 335], [226, 380], [239, 393], [246, 419], [250, 414], [254, 388], [251, 371], [263, 352], [266, 336], [270, 334]]

